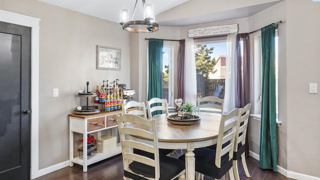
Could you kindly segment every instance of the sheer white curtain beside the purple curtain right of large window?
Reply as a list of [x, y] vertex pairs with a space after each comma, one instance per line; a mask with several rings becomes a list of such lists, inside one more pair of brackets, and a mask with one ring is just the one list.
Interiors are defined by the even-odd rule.
[[229, 34], [226, 38], [226, 59], [225, 59], [225, 84], [223, 113], [230, 112], [235, 108], [235, 89], [236, 89], [236, 34]]

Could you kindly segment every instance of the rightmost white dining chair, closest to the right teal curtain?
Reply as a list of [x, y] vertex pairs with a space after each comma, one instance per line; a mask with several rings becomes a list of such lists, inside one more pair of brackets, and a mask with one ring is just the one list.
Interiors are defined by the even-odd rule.
[[246, 104], [243, 108], [239, 108], [239, 120], [235, 129], [234, 147], [233, 147], [233, 173], [236, 180], [239, 180], [239, 171], [237, 167], [237, 159], [241, 158], [242, 166], [247, 177], [250, 177], [248, 167], [245, 161], [245, 136], [248, 125], [251, 103]]

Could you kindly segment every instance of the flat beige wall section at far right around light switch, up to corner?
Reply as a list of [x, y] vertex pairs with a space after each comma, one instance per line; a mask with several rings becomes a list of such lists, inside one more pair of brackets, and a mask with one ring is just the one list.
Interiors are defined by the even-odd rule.
[[287, 165], [288, 170], [320, 177], [320, 2], [287, 2]]

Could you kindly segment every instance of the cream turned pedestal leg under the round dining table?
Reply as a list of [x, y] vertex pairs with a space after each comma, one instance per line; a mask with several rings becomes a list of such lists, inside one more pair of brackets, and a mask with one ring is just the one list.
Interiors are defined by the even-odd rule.
[[194, 144], [188, 143], [188, 148], [185, 152], [185, 175], [187, 180], [194, 180], [195, 158]]

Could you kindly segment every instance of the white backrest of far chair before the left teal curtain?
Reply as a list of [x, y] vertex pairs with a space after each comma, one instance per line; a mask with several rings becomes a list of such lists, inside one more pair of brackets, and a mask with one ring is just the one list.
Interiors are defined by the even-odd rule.
[[153, 97], [150, 100], [147, 100], [146, 108], [148, 111], [148, 118], [151, 118], [152, 112], [156, 110], [161, 110], [161, 113], [163, 113], [163, 110], [165, 111], [166, 114], [169, 113], [166, 99], [160, 99], [158, 97]]

